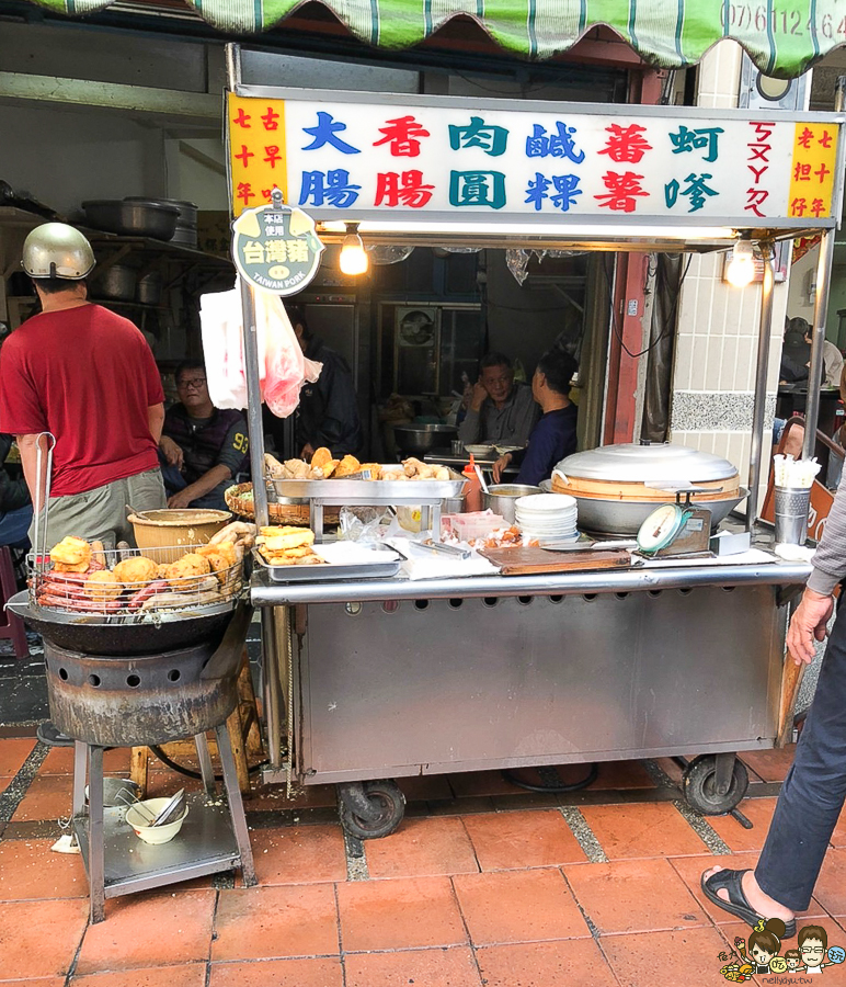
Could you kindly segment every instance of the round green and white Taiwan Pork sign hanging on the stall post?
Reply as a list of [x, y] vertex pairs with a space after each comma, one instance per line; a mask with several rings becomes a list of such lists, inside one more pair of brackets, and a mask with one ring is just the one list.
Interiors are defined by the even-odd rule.
[[232, 258], [254, 287], [295, 295], [317, 274], [323, 243], [311, 216], [284, 205], [278, 189], [271, 197], [272, 205], [244, 209], [232, 223]]

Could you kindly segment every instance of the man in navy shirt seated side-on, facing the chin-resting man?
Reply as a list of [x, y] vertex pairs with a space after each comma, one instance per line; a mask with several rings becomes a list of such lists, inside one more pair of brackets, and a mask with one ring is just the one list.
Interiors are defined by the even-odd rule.
[[552, 476], [564, 456], [575, 452], [576, 407], [568, 395], [576, 370], [575, 360], [563, 350], [552, 349], [540, 358], [531, 378], [531, 393], [544, 413], [531, 430], [528, 447], [506, 453], [493, 464], [493, 478], [498, 484], [502, 470], [515, 462], [519, 465], [515, 483], [537, 486]]

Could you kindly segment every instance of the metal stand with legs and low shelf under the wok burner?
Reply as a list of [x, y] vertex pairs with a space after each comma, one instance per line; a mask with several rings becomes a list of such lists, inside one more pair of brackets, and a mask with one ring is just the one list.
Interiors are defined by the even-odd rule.
[[[233, 867], [241, 869], [244, 887], [255, 884], [247, 817], [225, 723], [215, 727], [215, 738], [229, 802], [229, 819], [226, 818], [222, 806], [204, 805], [202, 795], [190, 796], [188, 815], [182, 829], [174, 840], [158, 846], [148, 846], [135, 837], [132, 827], [124, 819], [125, 808], [104, 807], [104, 748], [76, 741], [73, 830], [88, 871], [92, 924], [105, 919], [105, 899], [118, 895], [190, 881], [192, 877]], [[206, 795], [215, 796], [217, 790], [206, 735], [198, 734], [195, 741]]]

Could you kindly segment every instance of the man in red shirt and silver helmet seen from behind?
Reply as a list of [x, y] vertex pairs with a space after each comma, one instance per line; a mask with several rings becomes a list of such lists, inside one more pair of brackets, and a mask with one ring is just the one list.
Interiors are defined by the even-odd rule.
[[78, 230], [64, 223], [34, 229], [23, 268], [42, 313], [7, 339], [0, 358], [0, 431], [18, 439], [33, 503], [38, 433], [56, 436], [48, 549], [66, 535], [106, 546], [132, 541], [126, 504], [167, 506], [158, 461], [161, 378], [140, 331], [88, 302], [93, 266]]

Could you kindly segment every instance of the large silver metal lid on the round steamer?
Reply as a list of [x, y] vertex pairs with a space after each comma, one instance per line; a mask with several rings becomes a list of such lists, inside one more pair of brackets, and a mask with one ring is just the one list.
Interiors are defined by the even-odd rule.
[[701, 484], [738, 475], [728, 460], [670, 442], [603, 445], [568, 456], [556, 469], [569, 477], [650, 486], [659, 481]]

